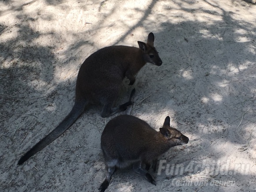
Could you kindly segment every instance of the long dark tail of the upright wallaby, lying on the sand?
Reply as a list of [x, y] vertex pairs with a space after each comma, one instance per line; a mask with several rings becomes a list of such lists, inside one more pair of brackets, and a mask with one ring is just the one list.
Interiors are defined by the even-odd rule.
[[34, 147], [30, 149], [30, 151], [26, 152], [18, 162], [18, 165], [22, 165], [26, 160], [36, 154], [38, 151], [41, 151], [47, 145], [52, 143], [55, 139], [57, 139], [62, 133], [64, 133], [74, 122], [75, 120], [83, 113], [86, 106], [86, 102], [79, 101], [75, 102], [71, 112], [65, 117], [65, 119], [47, 136], [41, 139]]

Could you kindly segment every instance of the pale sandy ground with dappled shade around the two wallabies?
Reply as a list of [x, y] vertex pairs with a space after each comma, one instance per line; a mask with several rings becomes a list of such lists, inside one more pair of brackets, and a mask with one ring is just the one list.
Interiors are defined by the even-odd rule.
[[159, 157], [157, 186], [122, 170], [107, 191], [256, 191], [256, 6], [241, 0], [2, 0], [0, 191], [98, 191], [103, 155], [87, 147], [100, 148], [113, 118], [98, 107], [16, 164], [72, 108], [87, 56], [137, 47], [149, 32], [163, 64], [147, 64], [132, 87], [125, 80], [118, 103], [135, 87], [124, 113], [155, 129], [170, 116], [190, 141]]

